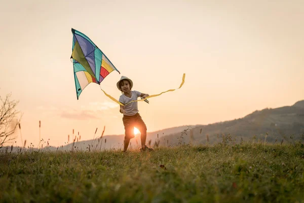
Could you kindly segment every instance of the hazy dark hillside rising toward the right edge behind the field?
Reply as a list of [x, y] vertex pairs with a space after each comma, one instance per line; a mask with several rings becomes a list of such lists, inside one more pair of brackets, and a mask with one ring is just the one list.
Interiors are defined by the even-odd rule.
[[[193, 127], [182, 133], [171, 134], [161, 139], [160, 145], [177, 145], [179, 142], [222, 142], [223, 138], [248, 141], [256, 138], [264, 142], [304, 141], [304, 100], [292, 106], [255, 111], [244, 118]], [[191, 140], [191, 137], [193, 138]]]

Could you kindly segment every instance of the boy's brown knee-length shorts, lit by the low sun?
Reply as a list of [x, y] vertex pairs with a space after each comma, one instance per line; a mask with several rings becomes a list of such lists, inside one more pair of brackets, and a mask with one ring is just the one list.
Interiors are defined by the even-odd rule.
[[147, 127], [143, 120], [141, 119], [141, 116], [139, 113], [133, 115], [133, 116], [126, 116], [123, 117], [123, 122], [125, 126], [125, 139], [131, 139], [134, 138], [134, 127], [136, 127], [140, 133], [141, 136], [144, 136], [147, 134]]

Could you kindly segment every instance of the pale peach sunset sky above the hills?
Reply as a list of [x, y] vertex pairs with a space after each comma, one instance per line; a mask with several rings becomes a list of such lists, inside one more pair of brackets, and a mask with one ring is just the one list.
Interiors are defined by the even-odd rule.
[[[71, 28], [121, 72], [101, 88], [115, 98], [121, 76], [148, 94], [138, 103], [148, 132], [242, 118], [304, 99], [304, 2], [1, 1], [0, 96], [19, 100], [16, 144], [50, 145], [123, 134], [119, 106], [88, 85], [75, 93]], [[41, 128], [39, 128], [41, 121]]]

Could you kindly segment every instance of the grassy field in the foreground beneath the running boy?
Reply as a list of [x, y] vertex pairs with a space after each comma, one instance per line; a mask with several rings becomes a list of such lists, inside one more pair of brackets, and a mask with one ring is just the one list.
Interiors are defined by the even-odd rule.
[[304, 202], [304, 146], [0, 154], [1, 202]]

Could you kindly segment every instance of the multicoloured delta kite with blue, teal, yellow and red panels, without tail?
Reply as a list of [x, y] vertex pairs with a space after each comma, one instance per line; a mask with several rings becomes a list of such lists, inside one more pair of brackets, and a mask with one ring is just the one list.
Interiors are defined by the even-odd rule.
[[100, 83], [112, 71], [120, 73], [106, 55], [84, 33], [72, 28], [73, 45], [71, 59], [77, 99], [90, 83]]

